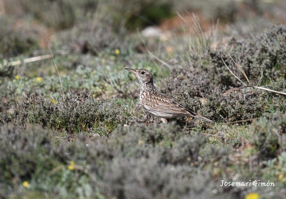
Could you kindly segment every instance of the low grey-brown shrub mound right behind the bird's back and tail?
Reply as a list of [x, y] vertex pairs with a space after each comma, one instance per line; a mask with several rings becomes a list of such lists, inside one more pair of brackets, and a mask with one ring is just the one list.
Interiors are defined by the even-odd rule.
[[241, 89], [226, 94], [226, 87], [222, 84], [215, 87], [205, 72], [187, 72], [183, 75], [180, 71], [174, 75], [176, 73], [175, 70], [172, 71], [173, 75], [162, 87], [162, 91], [206, 118], [218, 121], [223, 117], [233, 122], [257, 118], [264, 112], [263, 104], [257, 103], [261, 99], [258, 91]]

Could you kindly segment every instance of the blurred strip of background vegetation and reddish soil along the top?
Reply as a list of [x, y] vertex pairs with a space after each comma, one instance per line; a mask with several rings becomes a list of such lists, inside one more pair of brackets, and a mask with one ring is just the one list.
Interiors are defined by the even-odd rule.
[[[188, 13], [195, 13], [204, 31], [219, 19], [220, 28], [228, 24], [240, 34], [249, 33], [249, 29], [253, 33], [270, 23], [284, 23], [284, 6], [282, 0], [1, 0], [0, 53], [2, 58], [31, 55], [47, 46], [84, 53], [107, 47], [127, 51], [130, 34], [136, 29], [157, 25], [163, 30], [183, 31], [186, 24], [176, 21], [177, 13], [189, 23], [192, 14]], [[231, 35], [234, 31], [226, 32]]]

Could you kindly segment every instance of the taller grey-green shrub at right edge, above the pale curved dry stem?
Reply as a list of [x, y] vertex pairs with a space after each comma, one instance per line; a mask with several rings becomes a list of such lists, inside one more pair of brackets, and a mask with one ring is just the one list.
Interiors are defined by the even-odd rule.
[[[219, 81], [228, 87], [238, 87], [241, 83], [228, 71], [222, 58], [231, 71], [247, 83], [244, 75], [235, 65], [235, 61], [241, 65], [251, 83], [258, 82], [259, 78], [262, 77], [261, 85], [267, 85], [269, 82], [282, 77], [281, 70], [285, 65], [286, 57], [285, 38], [286, 26], [279, 25], [269, 28], [261, 35], [242, 40], [239, 43], [232, 40], [229, 43], [231, 48], [210, 51], [210, 68], [203, 68], [210, 72], [212, 81]], [[234, 61], [231, 60], [228, 53]]]

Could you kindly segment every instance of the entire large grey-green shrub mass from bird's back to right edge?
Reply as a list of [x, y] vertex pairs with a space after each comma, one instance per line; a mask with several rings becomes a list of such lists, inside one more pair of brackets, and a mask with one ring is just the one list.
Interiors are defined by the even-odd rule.
[[231, 71], [246, 84], [249, 83], [235, 62], [245, 71], [250, 85], [260, 82], [260, 85], [283, 92], [285, 32], [286, 26], [279, 25], [240, 43], [232, 40], [227, 49], [190, 55], [190, 63], [186, 67], [174, 65], [161, 91], [175, 96], [192, 111], [214, 121], [222, 118], [229, 122], [253, 119], [260, 117], [263, 112], [269, 112], [271, 107], [272, 110], [285, 112], [281, 94], [238, 89], [243, 84], [222, 61], [223, 58]]

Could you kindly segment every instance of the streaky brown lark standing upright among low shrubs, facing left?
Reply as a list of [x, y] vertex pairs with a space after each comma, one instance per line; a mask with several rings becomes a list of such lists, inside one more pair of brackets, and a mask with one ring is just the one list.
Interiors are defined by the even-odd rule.
[[141, 89], [139, 95], [139, 103], [148, 113], [159, 118], [162, 122], [167, 123], [168, 118], [176, 118], [178, 120], [184, 116], [192, 116], [198, 119], [214, 123], [208, 118], [202, 117], [186, 106], [175, 100], [174, 98], [159, 92], [153, 84], [153, 75], [150, 71], [140, 68], [137, 70], [125, 68], [134, 73], [140, 81]]

